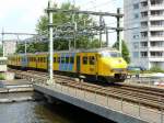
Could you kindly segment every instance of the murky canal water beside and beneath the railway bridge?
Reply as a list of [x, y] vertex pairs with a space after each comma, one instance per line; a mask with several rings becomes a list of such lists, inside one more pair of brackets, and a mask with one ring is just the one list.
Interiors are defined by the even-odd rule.
[[[32, 96], [32, 93], [14, 97]], [[7, 94], [7, 97], [13, 97]], [[0, 100], [3, 97], [0, 97]], [[63, 102], [48, 103], [46, 100], [0, 103], [0, 123], [114, 123]]]

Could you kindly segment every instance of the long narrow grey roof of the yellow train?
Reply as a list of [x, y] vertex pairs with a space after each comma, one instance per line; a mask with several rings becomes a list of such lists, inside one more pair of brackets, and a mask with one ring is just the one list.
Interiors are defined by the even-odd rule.
[[[61, 54], [62, 53], [101, 53], [103, 51], [118, 52], [115, 48], [106, 47], [106, 48], [92, 48], [92, 49], [54, 51], [54, 53], [61, 53]], [[39, 54], [45, 54], [46, 55], [46, 54], [48, 54], [48, 52], [27, 53], [27, 55], [39, 55]], [[21, 55], [21, 56], [23, 56], [24, 54], [13, 54], [13, 55]], [[11, 55], [9, 55], [9, 56], [11, 56]]]

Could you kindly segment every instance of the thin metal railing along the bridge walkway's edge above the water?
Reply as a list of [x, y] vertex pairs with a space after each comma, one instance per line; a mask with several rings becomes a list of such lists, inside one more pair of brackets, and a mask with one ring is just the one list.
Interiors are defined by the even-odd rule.
[[124, 97], [120, 99], [115, 99], [109, 96], [101, 96], [95, 92], [89, 92], [85, 90], [72, 88], [65, 86], [62, 83], [47, 83], [44, 82], [35, 82], [36, 85], [44, 86], [45, 88], [51, 89], [54, 91], [109, 109], [114, 110], [130, 116], [134, 116], [137, 119], [150, 122], [150, 123], [164, 123], [164, 111], [163, 109], [155, 110], [149, 107], [143, 107], [139, 103], [131, 103], [124, 100]]

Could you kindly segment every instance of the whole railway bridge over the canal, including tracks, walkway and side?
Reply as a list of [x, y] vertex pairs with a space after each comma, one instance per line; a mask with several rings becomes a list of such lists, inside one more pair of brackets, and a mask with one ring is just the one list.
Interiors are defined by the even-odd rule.
[[102, 87], [57, 75], [54, 76], [54, 82], [48, 82], [46, 72], [14, 72], [19, 78], [32, 80], [34, 89], [49, 99], [59, 99], [115, 122], [164, 123], [163, 90], [157, 92], [155, 89], [134, 88], [128, 85]]

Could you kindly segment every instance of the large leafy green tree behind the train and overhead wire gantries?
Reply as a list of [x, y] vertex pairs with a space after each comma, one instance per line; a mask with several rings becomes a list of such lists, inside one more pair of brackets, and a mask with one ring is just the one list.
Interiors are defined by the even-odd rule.
[[[72, 10], [72, 9], [79, 10], [79, 8], [70, 4], [69, 2], [62, 3], [61, 7], [54, 4], [54, 8], [63, 9], [63, 10]], [[54, 13], [52, 18], [54, 18], [55, 25], [65, 25], [65, 24], [72, 25], [72, 14], [57, 12], [57, 13]], [[89, 25], [94, 24], [93, 19], [90, 18], [87, 14], [74, 14], [74, 20], [77, 22], [78, 30], [80, 30], [80, 27], [86, 27]], [[38, 23], [36, 25], [36, 31], [38, 33], [45, 33], [45, 31], [47, 31], [47, 25], [48, 25], [48, 16], [47, 16], [47, 13], [45, 13], [38, 20]], [[69, 35], [71, 35], [73, 37], [73, 33], [70, 33]], [[71, 40], [71, 47], [73, 47], [73, 42], [74, 41]], [[89, 36], [85, 36], [85, 35], [77, 35], [75, 43], [77, 43], [77, 48], [98, 47], [97, 40], [90, 38]], [[20, 47], [21, 48], [19, 48], [17, 52], [19, 51], [22, 52], [23, 46], [20, 46]], [[55, 40], [54, 41], [54, 49], [56, 49], [56, 51], [69, 49], [69, 41], [65, 40], [65, 38]], [[27, 46], [27, 52], [47, 52], [47, 51], [48, 51], [48, 43], [31, 43]]]

